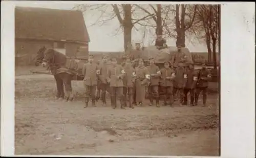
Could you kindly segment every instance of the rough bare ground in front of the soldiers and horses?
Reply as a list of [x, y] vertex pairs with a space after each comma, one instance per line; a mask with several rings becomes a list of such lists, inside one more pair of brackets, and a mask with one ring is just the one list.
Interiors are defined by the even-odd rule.
[[15, 154], [218, 155], [217, 95], [207, 107], [83, 108], [73, 88], [75, 101], [55, 101], [53, 76], [16, 76]]

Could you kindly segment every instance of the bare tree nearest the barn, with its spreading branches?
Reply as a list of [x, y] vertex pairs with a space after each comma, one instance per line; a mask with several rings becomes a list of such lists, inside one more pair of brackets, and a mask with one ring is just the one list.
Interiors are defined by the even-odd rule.
[[107, 21], [117, 18], [120, 24], [120, 28], [123, 31], [124, 51], [127, 51], [127, 49], [131, 48], [130, 45], [132, 43], [132, 29], [134, 26], [140, 21], [152, 18], [151, 14], [139, 18], [133, 18], [135, 7], [132, 4], [83, 4], [75, 6], [74, 9], [80, 10], [84, 13], [91, 10], [97, 10], [101, 12], [101, 15], [96, 20], [94, 25], [100, 23], [100, 25], [102, 25]]

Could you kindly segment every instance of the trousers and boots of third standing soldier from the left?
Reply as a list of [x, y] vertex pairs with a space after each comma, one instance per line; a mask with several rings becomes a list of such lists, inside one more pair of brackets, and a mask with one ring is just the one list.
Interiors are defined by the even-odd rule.
[[111, 106], [116, 108], [117, 100], [120, 101], [122, 107], [122, 99], [123, 99], [123, 87], [115, 87], [111, 86]]

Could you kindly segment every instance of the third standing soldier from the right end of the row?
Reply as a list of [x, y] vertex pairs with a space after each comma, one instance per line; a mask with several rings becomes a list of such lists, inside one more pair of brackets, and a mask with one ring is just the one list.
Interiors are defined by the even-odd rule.
[[175, 71], [175, 78], [174, 78], [174, 95], [179, 91], [180, 93], [180, 105], [183, 104], [184, 99], [184, 88], [186, 85], [187, 74], [186, 69], [182, 61], [178, 63], [178, 67]]

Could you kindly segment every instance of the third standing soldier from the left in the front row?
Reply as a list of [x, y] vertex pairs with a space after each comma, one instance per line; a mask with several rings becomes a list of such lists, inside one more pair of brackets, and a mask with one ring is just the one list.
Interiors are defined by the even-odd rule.
[[125, 71], [121, 65], [117, 64], [116, 58], [111, 59], [111, 67], [108, 70], [108, 82], [110, 82], [111, 97], [112, 97], [112, 108], [115, 109], [117, 106], [116, 101], [120, 101], [121, 108], [123, 107], [123, 77]]

